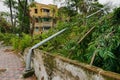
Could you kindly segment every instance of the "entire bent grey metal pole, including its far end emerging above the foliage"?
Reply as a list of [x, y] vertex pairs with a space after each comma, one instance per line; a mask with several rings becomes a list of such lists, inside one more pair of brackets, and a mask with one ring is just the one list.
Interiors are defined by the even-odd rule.
[[[98, 10], [98, 11], [96, 11], [96, 12], [94, 12], [94, 13], [92, 13], [91, 15], [88, 15], [88, 16], [86, 17], [86, 19], [89, 18], [89, 17], [91, 17], [91, 16], [93, 16], [93, 15], [95, 15], [95, 14], [97, 14], [97, 13], [99, 13], [100, 11], [102, 11], [102, 10], [104, 10], [104, 9], [105, 9], [105, 7], [104, 7], [104, 8], [101, 8], [100, 10]], [[94, 28], [95, 28], [95, 27], [94, 27]], [[54, 37], [62, 34], [62, 33], [65, 32], [67, 29], [68, 29], [68, 28], [62, 29], [61, 31], [53, 34], [52, 36], [44, 39], [43, 41], [39, 42], [38, 44], [36, 44], [36, 45], [34, 45], [32, 48], [30, 48], [29, 53], [27, 54], [27, 58], [26, 58], [26, 68], [25, 68], [25, 71], [26, 71], [26, 72], [27, 72], [27, 71], [30, 71], [30, 70], [32, 69], [32, 68], [31, 68], [31, 58], [32, 58], [32, 52], [33, 52], [33, 50], [36, 49], [36, 48], [38, 48], [38, 47], [41, 46], [42, 44], [46, 43], [47, 41], [51, 40], [52, 38], [54, 38]]]

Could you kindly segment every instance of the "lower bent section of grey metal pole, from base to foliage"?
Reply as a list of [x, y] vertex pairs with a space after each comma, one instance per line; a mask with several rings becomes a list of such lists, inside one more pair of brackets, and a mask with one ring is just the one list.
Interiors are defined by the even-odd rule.
[[31, 57], [32, 57], [32, 52], [33, 49], [41, 46], [42, 44], [46, 43], [47, 41], [51, 40], [52, 38], [56, 37], [57, 35], [60, 35], [64, 31], [66, 31], [68, 28], [62, 29], [61, 31], [53, 34], [52, 36], [48, 37], [47, 39], [44, 39], [43, 41], [39, 42], [38, 44], [34, 45], [30, 50], [29, 53], [27, 54], [27, 59], [26, 59], [26, 71], [31, 70]]

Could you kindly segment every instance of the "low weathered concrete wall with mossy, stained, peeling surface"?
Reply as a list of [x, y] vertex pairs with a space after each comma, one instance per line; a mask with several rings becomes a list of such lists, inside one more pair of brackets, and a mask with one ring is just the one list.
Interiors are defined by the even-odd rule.
[[[25, 51], [26, 53], [28, 50]], [[32, 59], [38, 80], [120, 80], [120, 74], [40, 50], [34, 50]]]

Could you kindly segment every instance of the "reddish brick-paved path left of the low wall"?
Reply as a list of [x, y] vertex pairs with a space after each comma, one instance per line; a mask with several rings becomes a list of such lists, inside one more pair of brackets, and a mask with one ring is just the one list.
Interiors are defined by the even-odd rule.
[[8, 47], [0, 46], [0, 80], [36, 80], [35, 77], [22, 78], [24, 64], [17, 54]]

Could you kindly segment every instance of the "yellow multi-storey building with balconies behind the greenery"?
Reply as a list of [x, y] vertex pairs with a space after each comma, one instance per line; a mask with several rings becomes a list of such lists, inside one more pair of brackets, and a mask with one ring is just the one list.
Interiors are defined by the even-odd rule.
[[56, 24], [57, 6], [36, 3], [30, 8], [30, 15], [35, 18], [34, 34], [40, 34]]

